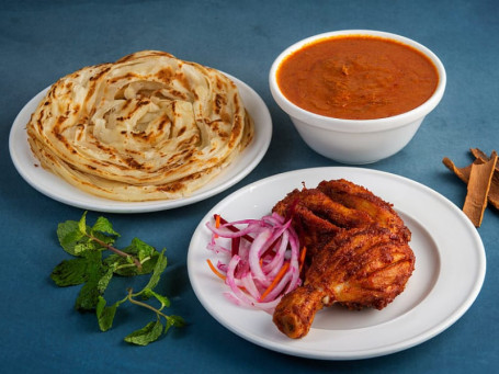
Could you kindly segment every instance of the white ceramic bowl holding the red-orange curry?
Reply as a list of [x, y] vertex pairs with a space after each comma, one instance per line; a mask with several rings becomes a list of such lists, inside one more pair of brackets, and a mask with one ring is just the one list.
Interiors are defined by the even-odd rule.
[[[418, 107], [402, 114], [378, 120], [341, 120], [303, 110], [287, 100], [281, 92], [276, 81], [276, 71], [285, 57], [300, 49], [306, 44], [338, 35], [379, 36], [404, 43], [420, 50], [436, 67], [439, 73], [436, 90], [429, 100]], [[345, 30], [315, 35], [293, 44], [279, 55], [273, 63], [269, 82], [275, 102], [290, 115], [299, 135], [311, 149], [342, 163], [363, 165], [376, 162], [395, 155], [412, 139], [424, 116], [442, 99], [446, 76], [440, 59], [430, 49], [415, 41], [378, 31]]]

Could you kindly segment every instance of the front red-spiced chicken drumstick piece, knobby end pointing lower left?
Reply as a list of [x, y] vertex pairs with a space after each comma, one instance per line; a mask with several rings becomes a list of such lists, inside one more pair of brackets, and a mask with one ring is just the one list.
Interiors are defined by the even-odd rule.
[[404, 291], [413, 269], [412, 250], [390, 230], [344, 230], [316, 253], [304, 285], [283, 296], [273, 321], [296, 339], [308, 333], [324, 306], [382, 309]]

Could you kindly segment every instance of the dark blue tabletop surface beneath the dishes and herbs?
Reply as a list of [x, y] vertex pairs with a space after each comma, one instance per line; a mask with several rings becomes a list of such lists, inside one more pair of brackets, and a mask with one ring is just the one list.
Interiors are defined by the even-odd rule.
[[[462, 206], [465, 185], [443, 165], [472, 161], [468, 149], [499, 150], [499, 2], [444, 1], [2, 1], [0, 7], [0, 371], [2, 373], [165, 371], [170, 373], [355, 372], [490, 373], [499, 365], [499, 212], [478, 233], [487, 274], [472, 307], [436, 337], [411, 349], [359, 361], [315, 361], [256, 345], [219, 325], [191, 288], [186, 252], [205, 213], [239, 188], [288, 170], [339, 166], [310, 150], [273, 101], [268, 72], [288, 45], [318, 33], [368, 29], [405, 35], [443, 61], [440, 105], [399, 154], [366, 166], [400, 174]], [[229, 190], [190, 206], [148, 214], [105, 214], [123, 242], [137, 236], [168, 248], [169, 311], [190, 322], [145, 348], [123, 342], [141, 324], [125, 311], [100, 332], [72, 307], [77, 288], [48, 277], [65, 254], [59, 222], [82, 211], [31, 188], [12, 165], [8, 139], [23, 105], [59, 77], [141, 49], [160, 49], [228, 72], [266, 103], [273, 137], [261, 163]], [[431, 208], [428, 206], [426, 208]], [[90, 219], [99, 214], [90, 212]], [[382, 337], [381, 337], [382, 339]]]

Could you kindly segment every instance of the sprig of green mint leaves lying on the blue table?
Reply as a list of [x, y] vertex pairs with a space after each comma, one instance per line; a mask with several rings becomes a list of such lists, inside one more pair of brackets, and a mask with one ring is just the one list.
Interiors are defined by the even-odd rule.
[[[158, 340], [170, 327], [185, 325], [182, 317], [168, 316], [162, 311], [170, 306], [170, 301], [154, 291], [167, 268], [166, 249], [159, 252], [134, 238], [128, 247], [120, 250], [114, 247], [120, 234], [113, 229], [111, 223], [99, 217], [90, 227], [87, 225], [87, 212], [79, 222], [67, 220], [59, 224], [57, 237], [63, 249], [75, 258], [60, 262], [52, 272], [50, 279], [60, 287], [82, 284], [75, 307], [80, 311], [94, 311], [101, 331], [112, 327], [116, 309], [126, 302], [156, 314], [156, 320], [125, 337], [126, 342], [147, 345]], [[111, 254], [104, 257], [104, 252]], [[139, 292], [127, 288], [123, 299], [107, 306], [104, 292], [114, 275], [145, 274], [150, 274], [150, 277], [144, 288]], [[160, 306], [156, 308], [146, 303], [150, 298], [159, 302]]]

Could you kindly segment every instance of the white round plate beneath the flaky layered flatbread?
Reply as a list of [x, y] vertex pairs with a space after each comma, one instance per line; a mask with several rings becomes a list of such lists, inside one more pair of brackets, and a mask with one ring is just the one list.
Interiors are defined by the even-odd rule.
[[188, 197], [152, 202], [106, 200], [80, 191], [55, 174], [37, 167], [39, 162], [30, 149], [25, 126], [48, 88], [34, 97], [15, 117], [9, 138], [12, 161], [21, 177], [34, 189], [56, 201], [84, 209], [111, 213], [155, 212], [192, 204], [211, 197], [227, 190], [248, 175], [265, 155], [272, 137], [272, 120], [263, 100], [239, 79], [229, 75], [226, 76], [237, 84], [245, 106], [254, 121], [254, 138], [228, 168]]

